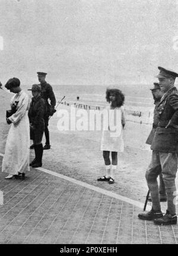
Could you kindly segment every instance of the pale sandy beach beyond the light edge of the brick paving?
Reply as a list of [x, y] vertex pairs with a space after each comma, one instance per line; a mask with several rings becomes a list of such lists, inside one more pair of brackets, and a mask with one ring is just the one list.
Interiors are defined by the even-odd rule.
[[[10, 93], [1, 90], [1, 154], [4, 154], [9, 129], [5, 121], [5, 110], [9, 108], [10, 98]], [[61, 104], [58, 110], [62, 109], [70, 111], [70, 106]], [[125, 151], [118, 154], [115, 184], [109, 185], [106, 182], [97, 182], [97, 177], [105, 173], [103, 156], [100, 151], [101, 132], [59, 131], [58, 120], [58, 113], [56, 113], [49, 121], [52, 147], [44, 151], [44, 168], [144, 203], [148, 190], [145, 170], [151, 159], [150, 146], [145, 145], [145, 141], [151, 130], [151, 124], [127, 121], [124, 129]], [[45, 143], [44, 138], [43, 143]], [[33, 157], [34, 151], [31, 150], [31, 160]]]

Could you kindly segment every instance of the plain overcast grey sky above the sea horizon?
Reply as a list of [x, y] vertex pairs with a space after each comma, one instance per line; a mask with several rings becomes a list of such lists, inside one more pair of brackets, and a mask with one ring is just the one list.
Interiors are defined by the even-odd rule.
[[0, 0], [0, 80], [152, 83], [158, 65], [178, 72], [177, 11], [176, 0]]

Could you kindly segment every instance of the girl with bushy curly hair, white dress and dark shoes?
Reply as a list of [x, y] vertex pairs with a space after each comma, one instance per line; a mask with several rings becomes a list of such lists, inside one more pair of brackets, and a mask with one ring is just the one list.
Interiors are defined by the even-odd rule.
[[[106, 108], [109, 116], [109, 125], [107, 130], [103, 130], [101, 138], [101, 150], [106, 167], [106, 175], [97, 179], [98, 181], [108, 181], [115, 183], [115, 170], [117, 167], [117, 152], [123, 152], [123, 128], [125, 126], [125, 112], [122, 107], [125, 96], [119, 89], [107, 89], [106, 101], [110, 106]], [[116, 118], [117, 117], [117, 118]], [[118, 118], [119, 117], [119, 118]], [[116, 126], [115, 131], [112, 125]], [[119, 131], [119, 132], [118, 132]], [[109, 155], [112, 155], [112, 165]]]

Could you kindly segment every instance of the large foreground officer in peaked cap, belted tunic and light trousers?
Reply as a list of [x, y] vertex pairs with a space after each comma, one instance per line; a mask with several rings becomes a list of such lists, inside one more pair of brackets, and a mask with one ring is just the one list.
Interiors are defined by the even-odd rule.
[[[174, 82], [178, 74], [158, 67], [157, 75], [164, 95], [157, 106], [158, 117], [154, 138], [152, 139], [152, 159], [145, 177], [151, 193], [152, 209], [138, 214], [142, 220], [154, 220], [157, 225], [177, 224], [176, 215], [176, 173], [178, 152], [178, 92]], [[160, 169], [161, 167], [161, 169]], [[157, 177], [163, 174], [167, 194], [166, 214], [161, 212]]]

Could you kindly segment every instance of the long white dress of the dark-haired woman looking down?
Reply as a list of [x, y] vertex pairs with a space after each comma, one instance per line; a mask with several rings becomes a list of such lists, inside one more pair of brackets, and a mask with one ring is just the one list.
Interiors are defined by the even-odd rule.
[[11, 106], [15, 101], [18, 101], [17, 112], [9, 117], [12, 123], [2, 160], [2, 171], [9, 174], [30, 171], [30, 124], [28, 120], [30, 100], [27, 93], [21, 90], [11, 98]]

